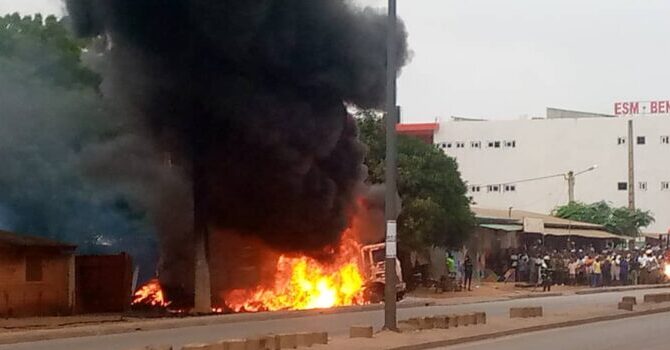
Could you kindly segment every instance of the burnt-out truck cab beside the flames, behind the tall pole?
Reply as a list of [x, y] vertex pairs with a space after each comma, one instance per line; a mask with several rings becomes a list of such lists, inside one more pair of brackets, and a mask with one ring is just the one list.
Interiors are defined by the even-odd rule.
[[[384, 300], [384, 288], [386, 286], [386, 244], [370, 244], [361, 248], [361, 261], [365, 267], [366, 297], [372, 303], [380, 303]], [[395, 259], [396, 272], [396, 299], [405, 297], [407, 284], [402, 280], [402, 268], [400, 260]]]

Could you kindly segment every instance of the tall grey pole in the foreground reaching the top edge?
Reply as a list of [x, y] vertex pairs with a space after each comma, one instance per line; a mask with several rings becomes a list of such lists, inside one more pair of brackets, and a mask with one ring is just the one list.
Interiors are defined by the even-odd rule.
[[386, 260], [384, 263], [384, 328], [398, 329], [396, 315], [397, 256], [397, 108], [396, 108], [396, 0], [388, 2], [386, 27]]

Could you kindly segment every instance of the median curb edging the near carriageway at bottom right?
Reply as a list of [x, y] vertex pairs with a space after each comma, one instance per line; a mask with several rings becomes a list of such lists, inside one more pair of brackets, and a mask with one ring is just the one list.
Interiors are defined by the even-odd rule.
[[580, 320], [554, 322], [554, 323], [548, 323], [548, 324], [537, 325], [537, 326], [511, 329], [511, 330], [507, 330], [507, 331], [478, 334], [478, 335], [474, 335], [474, 336], [457, 338], [457, 339], [445, 339], [445, 340], [437, 340], [437, 341], [420, 343], [420, 344], [404, 345], [404, 346], [399, 346], [399, 347], [395, 347], [395, 348], [389, 348], [388, 350], [434, 349], [434, 348], [438, 348], [438, 347], [445, 347], [445, 346], [451, 346], [451, 345], [472, 343], [472, 342], [477, 342], [477, 341], [482, 341], [482, 340], [490, 340], [490, 339], [508, 337], [508, 336], [511, 336], [511, 335], [519, 335], [519, 334], [524, 334], [524, 333], [539, 332], [539, 331], [545, 331], [545, 330], [549, 330], [549, 329], [558, 329], [558, 328], [581, 326], [581, 325], [584, 325], [584, 324], [596, 323], [596, 322], [615, 321], [615, 320], [621, 320], [621, 319], [626, 319], [626, 318], [655, 315], [655, 314], [660, 314], [660, 313], [664, 313], [664, 312], [670, 312], [670, 306], [666, 306], [666, 307], [662, 307], [662, 308], [658, 308], [658, 309], [652, 309], [652, 310], [633, 311], [633, 312], [628, 312], [628, 313], [591, 317], [591, 318], [585, 318], [585, 319], [580, 319]]

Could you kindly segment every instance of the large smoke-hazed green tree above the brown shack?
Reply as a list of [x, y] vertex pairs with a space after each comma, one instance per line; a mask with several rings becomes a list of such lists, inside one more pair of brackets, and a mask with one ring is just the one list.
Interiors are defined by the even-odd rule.
[[82, 152], [120, 128], [86, 44], [53, 16], [0, 17], [0, 229], [133, 253], [153, 239], [141, 211], [83, 171]]

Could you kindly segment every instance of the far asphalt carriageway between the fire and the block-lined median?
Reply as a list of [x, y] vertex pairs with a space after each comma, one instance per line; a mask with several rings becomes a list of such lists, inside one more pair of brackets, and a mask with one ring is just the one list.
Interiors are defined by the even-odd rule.
[[[654, 289], [653, 293], [669, 292], [670, 289]], [[630, 292], [603, 293], [591, 295], [568, 295], [535, 299], [518, 299], [479, 304], [430, 306], [404, 308], [398, 310], [398, 319], [407, 319], [416, 316], [430, 316], [449, 313], [485, 311], [490, 316], [506, 315], [513, 306], [543, 306], [546, 312], [575, 308], [580, 305], [613, 305], [624, 295], [641, 297], [650, 293], [649, 290]], [[657, 316], [660, 317], [660, 316]], [[670, 316], [666, 316], [670, 317]], [[668, 320], [668, 319], [666, 319]], [[631, 320], [624, 320], [631, 322]], [[383, 324], [383, 311], [364, 311], [338, 313], [319, 316], [306, 316], [291, 319], [275, 319], [267, 321], [246, 321], [225, 324], [213, 324], [198, 327], [185, 327], [168, 330], [140, 331], [125, 334], [101, 335], [31, 343], [0, 345], [0, 350], [127, 350], [149, 344], [172, 344], [181, 346], [188, 343], [214, 342], [227, 338], [242, 338], [268, 333], [286, 333], [300, 331], [328, 331], [331, 335], [342, 335], [348, 332], [349, 326], [354, 324], [369, 324], [379, 329]], [[666, 332], [670, 323], [665, 323]], [[589, 329], [589, 325], [583, 326]], [[637, 326], [636, 326], [637, 327]], [[660, 333], [664, 334], [664, 333]], [[614, 336], [611, 334], [609, 336]], [[585, 334], [588, 336], [588, 333]], [[618, 335], [616, 335], [618, 336]], [[604, 338], [604, 335], [594, 339]], [[563, 338], [567, 339], [567, 338]], [[556, 345], [556, 344], [554, 344]], [[496, 349], [503, 349], [495, 347]], [[643, 349], [645, 347], [638, 347]], [[667, 347], [666, 347], [667, 348]], [[517, 349], [517, 348], [515, 348]], [[544, 348], [538, 348], [548, 350]], [[565, 349], [558, 347], [555, 349]], [[600, 349], [600, 348], [581, 348]], [[610, 349], [604, 347], [603, 349]], [[645, 348], [646, 349], [646, 348]], [[651, 349], [651, 348], [649, 348]]]

